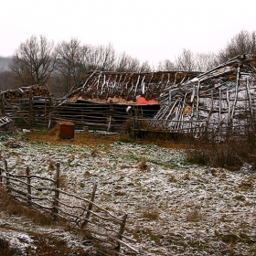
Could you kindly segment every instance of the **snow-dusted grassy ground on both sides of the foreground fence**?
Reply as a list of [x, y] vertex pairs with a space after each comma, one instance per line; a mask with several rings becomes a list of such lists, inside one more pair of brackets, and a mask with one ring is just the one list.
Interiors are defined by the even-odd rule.
[[[125, 134], [76, 131], [73, 139], [61, 140], [58, 131], [33, 131], [0, 146], [14, 174], [24, 174], [29, 165], [35, 175], [52, 177], [59, 161], [66, 191], [85, 197], [97, 183], [96, 203], [128, 215], [125, 231], [139, 255], [255, 255], [255, 173], [190, 164], [179, 149], [193, 144], [155, 138], [134, 141]], [[19, 214], [16, 203], [11, 208], [1, 195], [0, 255], [10, 255], [1, 253], [9, 244], [1, 244], [1, 235], [4, 241], [22, 238], [35, 252], [28, 255], [104, 255], [98, 253], [100, 243], [94, 246], [69, 226], [53, 231], [44, 218], [43, 225], [23, 219], [24, 210]], [[71, 254], [70, 248], [80, 251]]]

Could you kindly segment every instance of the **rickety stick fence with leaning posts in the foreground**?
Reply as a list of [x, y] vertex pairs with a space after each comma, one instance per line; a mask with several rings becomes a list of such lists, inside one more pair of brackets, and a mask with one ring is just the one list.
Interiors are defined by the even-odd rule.
[[[40, 208], [50, 212], [52, 218], [65, 219], [75, 227], [90, 233], [92, 239], [101, 241], [108, 252], [114, 255], [137, 255], [133, 245], [135, 240], [124, 235], [127, 214], [116, 216], [111, 211], [101, 208], [94, 202], [97, 185], [91, 192], [91, 198], [81, 197], [59, 188], [60, 168], [56, 166], [55, 178], [30, 174], [11, 174], [7, 162], [0, 168], [0, 183], [11, 193], [12, 197], [26, 203], [27, 207]], [[108, 254], [106, 254], [108, 255]], [[112, 254], [110, 254], [112, 255]]]

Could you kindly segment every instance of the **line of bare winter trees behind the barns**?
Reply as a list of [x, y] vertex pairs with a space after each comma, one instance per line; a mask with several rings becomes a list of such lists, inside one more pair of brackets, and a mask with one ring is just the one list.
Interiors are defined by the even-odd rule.
[[[27, 85], [46, 85], [56, 96], [67, 93], [90, 70], [117, 72], [150, 71], [206, 71], [244, 53], [256, 53], [256, 31], [241, 30], [218, 53], [193, 53], [187, 48], [172, 61], [160, 61], [151, 67], [125, 52], [119, 54], [112, 47], [81, 44], [77, 38], [54, 45], [45, 36], [32, 36], [22, 42], [4, 69], [0, 61], [0, 91]], [[1, 60], [0, 59], [0, 60]], [[2, 63], [2, 69], [1, 69]]]

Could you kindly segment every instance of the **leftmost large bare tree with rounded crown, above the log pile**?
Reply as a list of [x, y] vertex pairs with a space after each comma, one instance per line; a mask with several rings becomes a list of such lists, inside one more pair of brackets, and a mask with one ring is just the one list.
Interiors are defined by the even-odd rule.
[[32, 36], [17, 48], [10, 69], [23, 85], [45, 84], [55, 66], [53, 42]]

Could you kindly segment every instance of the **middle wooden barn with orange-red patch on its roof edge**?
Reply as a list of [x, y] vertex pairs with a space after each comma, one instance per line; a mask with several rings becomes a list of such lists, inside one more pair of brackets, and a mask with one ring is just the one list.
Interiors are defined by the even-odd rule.
[[82, 128], [120, 132], [131, 116], [152, 120], [160, 105], [156, 100], [167, 88], [195, 78], [198, 72], [162, 71], [120, 73], [91, 71], [58, 102], [55, 121]]

